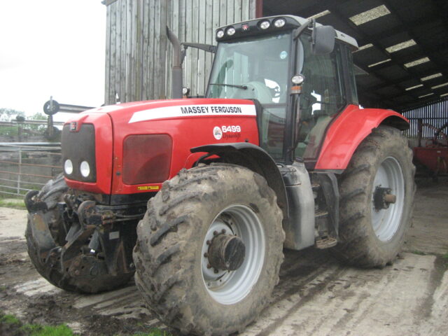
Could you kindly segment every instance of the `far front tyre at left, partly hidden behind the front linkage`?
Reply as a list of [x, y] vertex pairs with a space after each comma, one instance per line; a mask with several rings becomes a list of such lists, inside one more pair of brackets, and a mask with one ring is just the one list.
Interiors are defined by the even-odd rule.
[[[27, 239], [28, 255], [32, 264], [41, 276], [54, 286], [64, 290], [80, 293], [97, 293], [125, 285], [132, 279], [134, 272], [118, 273], [116, 275], [105, 274], [105, 272], [98, 272], [98, 274], [92, 275], [83, 272], [76, 275], [74, 269], [79, 267], [84, 269], [84, 265], [87, 265], [85, 262], [90, 262], [90, 265], [104, 264], [103, 260], [99, 264], [97, 258], [83, 255], [81, 249], [71, 254], [70, 258], [67, 258], [66, 262], [64, 262], [64, 269], [58, 267], [59, 258], [55, 262], [51, 260], [50, 253], [43, 253], [43, 255], [39, 253], [41, 250], [47, 251], [48, 246], [58, 248], [60, 251], [66, 244], [67, 230], [64, 228], [62, 213], [58, 209], [57, 203], [63, 202], [67, 190], [68, 187], [64, 181], [64, 176], [59, 174], [55, 179], [48, 181], [41, 191], [31, 191], [25, 197], [25, 204], [27, 204], [29, 211], [25, 237]], [[34, 203], [41, 204], [39, 209], [32, 209], [33, 206], [31, 204]], [[34, 218], [40, 219], [39, 221], [34, 221]], [[32, 226], [36, 225], [41, 225], [41, 229], [33, 230]], [[47, 235], [45, 235], [48, 239], [46, 241], [41, 239], [43, 233], [45, 233], [45, 229], [42, 229], [42, 227], [48, 228]], [[38, 232], [40, 235], [34, 236], [33, 232]], [[89, 237], [85, 237], [78, 244], [87, 247], [89, 239]], [[76, 267], [76, 262], [82, 263], [79, 267]], [[105, 267], [102, 267], [102, 269], [105, 269]]]

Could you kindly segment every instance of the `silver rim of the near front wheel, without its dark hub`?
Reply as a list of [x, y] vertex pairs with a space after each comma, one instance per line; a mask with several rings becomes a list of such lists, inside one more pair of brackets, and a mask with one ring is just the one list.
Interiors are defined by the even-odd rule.
[[[210, 267], [207, 241], [214, 233], [223, 232], [237, 235], [243, 242], [246, 255], [242, 265], [235, 271]], [[246, 297], [258, 281], [265, 260], [265, 232], [260, 219], [252, 209], [242, 204], [234, 204], [221, 211], [214, 218], [202, 244], [202, 279], [211, 297], [221, 304], [235, 304]]]

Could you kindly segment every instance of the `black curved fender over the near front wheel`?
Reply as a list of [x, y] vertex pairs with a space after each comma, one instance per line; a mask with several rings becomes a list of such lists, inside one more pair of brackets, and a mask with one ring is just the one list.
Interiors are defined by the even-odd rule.
[[232, 163], [241, 167], [251, 169], [253, 172], [263, 176], [267, 184], [277, 196], [277, 204], [283, 211], [283, 220], [288, 218], [288, 200], [286, 198], [285, 183], [281, 177], [272, 157], [261, 147], [248, 142], [237, 142], [229, 144], [211, 144], [191, 148], [191, 153], [209, 153], [218, 155], [221, 162]]

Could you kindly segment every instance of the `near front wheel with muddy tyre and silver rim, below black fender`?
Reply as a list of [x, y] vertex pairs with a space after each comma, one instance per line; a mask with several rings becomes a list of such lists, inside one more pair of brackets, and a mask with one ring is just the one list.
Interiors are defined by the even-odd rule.
[[[148, 308], [183, 333], [244, 330], [279, 281], [282, 216], [274, 191], [251, 170], [219, 164], [179, 172], [137, 226], [135, 280]], [[226, 265], [242, 264], [221, 269], [212, 246], [235, 235], [244, 261], [235, 253]]]

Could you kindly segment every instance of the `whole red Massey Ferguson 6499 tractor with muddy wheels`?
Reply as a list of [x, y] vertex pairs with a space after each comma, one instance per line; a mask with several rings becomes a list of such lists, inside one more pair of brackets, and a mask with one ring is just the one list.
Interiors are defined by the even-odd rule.
[[[169, 38], [180, 98], [183, 53]], [[184, 44], [216, 52], [204, 98], [80, 113], [62, 131], [64, 176], [25, 198], [45, 279], [94, 293], [135, 273], [162, 321], [199, 335], [260, 314], [283, 248], [390, 264], [414, 197], [409, 125], [358, 106], [353, 38], [283, 15], [221, 27], [216, 40]]]

